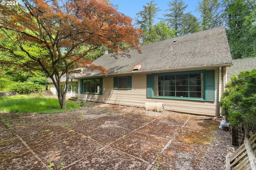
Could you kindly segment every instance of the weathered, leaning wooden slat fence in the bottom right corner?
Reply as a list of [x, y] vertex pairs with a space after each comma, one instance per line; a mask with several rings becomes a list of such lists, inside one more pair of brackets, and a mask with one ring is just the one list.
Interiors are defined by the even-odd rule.
[[245, 138], [244, 143], [233, 153], [226, 155], [226, 170], [256, 170], [256, 133]]

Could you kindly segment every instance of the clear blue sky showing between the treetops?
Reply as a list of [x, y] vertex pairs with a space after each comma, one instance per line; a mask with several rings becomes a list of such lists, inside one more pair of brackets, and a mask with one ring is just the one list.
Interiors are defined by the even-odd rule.
[[[165, 11], [169, 8], [170, 0], [154, 0], [153, 4], [157, 4], [156, 8], [159, 8], [162, 11], [158, 12], [158, 18], [164, 18], [162, 14], [168, 14], [168, 11]], [[195, 12], [196, 6], [198, 6], [199, 0], [183, 0], [183, 2], [188, 4], [188, 7], [185, 10], [185, 13], [191, 12], [196, 18], [200, 17], [198, 12]], [[122, 12], [126, 16], [130, 16], [130, 18], [134, 19], [136, 14], [143, 10], [143, 6], [147, 6], [147, 2], [150, 3], [151, 0], [110, 0], [110, 2], [114, 5], [118, 5], [118, 12]], [[155, 23], [160, 20], [155, 19]], [[133, 22], [134, 23], [134, 20]]]

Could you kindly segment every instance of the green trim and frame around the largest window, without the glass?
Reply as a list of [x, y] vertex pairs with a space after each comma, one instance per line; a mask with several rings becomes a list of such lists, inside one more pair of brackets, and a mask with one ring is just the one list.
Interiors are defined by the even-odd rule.
[[[209, 70], [213, 71], [214, 75], [214, 70]], [[173, 97], [173, 96], [154, 96], [154, 76], [161, 76], [161, 75], [180, 75], [180, 74], [196, 74], [196, 73], [203, 73], [204, 74], [204, 97], [203, 98], [196, 98], [196, 97]], [[213, 79], [213, 85], [208, 85], [207, 84], [207, 73], [208, 71], [206, 70], [198, 70], [198, 71], [182, 71], [182, 72], [169, 72], [169, 73], [153, 73], [147, 75], [147, 98], [155, 98], [155, 99], [182, 99], [182, 100], [192, 100], [192, 101], [215, 101], [215, 77]], [[150, 79], [150, 80], [148, 80]], [[149, 86], [150, 84], [150, 86]], [[188, 86], [189, 87], [189, 86]], [[214, 89], [214, 99], [207, 99], [207, 87], [213, 87]]]

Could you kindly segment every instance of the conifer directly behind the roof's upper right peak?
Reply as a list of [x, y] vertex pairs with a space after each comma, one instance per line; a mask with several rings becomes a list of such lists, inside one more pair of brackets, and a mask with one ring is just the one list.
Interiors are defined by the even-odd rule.
[[220, 5], [218, 0], [202, 0], [199, 2], [197, 10], [201, 13], [202, 30], [222, 26]]

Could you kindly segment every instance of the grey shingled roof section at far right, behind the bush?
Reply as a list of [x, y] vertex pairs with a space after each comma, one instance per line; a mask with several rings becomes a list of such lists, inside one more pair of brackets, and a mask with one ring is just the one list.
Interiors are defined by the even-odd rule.
[[232, 67], [227, 67], [227, 81], [231, 81], [232, 75], [238, 76], [241, 71], [256, 69], [256, 57], [233, 59]]

